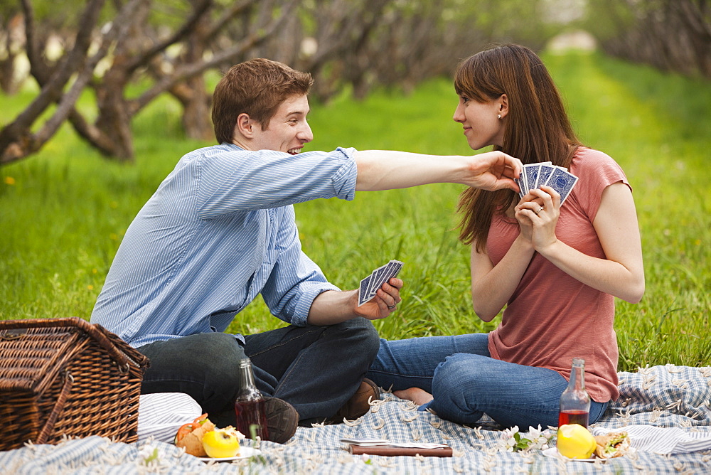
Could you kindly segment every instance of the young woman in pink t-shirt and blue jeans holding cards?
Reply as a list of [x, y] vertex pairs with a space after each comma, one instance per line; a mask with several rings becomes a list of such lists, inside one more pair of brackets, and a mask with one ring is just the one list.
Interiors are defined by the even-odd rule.
[[486, 413], [510, 427], [557, 426], [573, 358], [585, 360], [589, 422], [616, 400], [614, 297], [644, 292], [631, 187], [606, 154], [575, 137], [533, 51], [506, 45], [460, 63], [454, 120], [472, 149], [493, 145], [524, 164], [551, 161], [577, 176], [565, 204], [548, 186], [461, 194], [460, 239], [471, 244], [474, 311], [491, 333], [381, 340], [368, 378], [440, 417]]

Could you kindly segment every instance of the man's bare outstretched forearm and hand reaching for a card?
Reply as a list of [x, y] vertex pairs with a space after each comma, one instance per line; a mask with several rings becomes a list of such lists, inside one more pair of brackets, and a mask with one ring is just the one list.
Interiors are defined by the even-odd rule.
[[357, 191], [409, 188], [427, 183], [461, 183], [488, 191], [509, 188], [518, 191], [513, 178], [523, 164], [502, 151], [473, 156], [422, 155], [405, 151], [356, 151]]

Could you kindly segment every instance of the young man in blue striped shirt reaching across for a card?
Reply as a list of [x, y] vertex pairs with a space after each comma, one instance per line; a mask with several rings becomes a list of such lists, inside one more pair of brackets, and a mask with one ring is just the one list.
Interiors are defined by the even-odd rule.
[[[360, 417], [378, 388], [363, 377], [378, 353], [370, 322], [400, 301], [390, 279], [372, 301], [341, 292], [301, 252], [294, 203], [352, 200], [356, 190], [453, 182], [518, 190], [520, 161], [399, 151], [299, 154], [311, 76], [265, 59], [233, 66], [215, 88], [219, 145], [192, 151], [127, 229], [91, 321], [151, 360], [143, 393], [182, 392], [218, 427], [235, 424], [237, 363], [251, 358], [267, 396], [270, 439], [302, 425]], [[289, 326], [223, 333], [262, 294]]]

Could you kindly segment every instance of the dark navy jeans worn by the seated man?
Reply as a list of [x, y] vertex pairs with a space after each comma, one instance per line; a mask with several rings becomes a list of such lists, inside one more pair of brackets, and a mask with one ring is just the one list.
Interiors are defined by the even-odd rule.
[[235, 425], [237, 363], [252, 360], [257, 388], [299, 412], [299, 423], [323, 421], [355, 393], [378, 353], [378, 332], [363, 318], [330, 326], [287, 326], [245, 336], [228, 333], [157, 341], [137, 348], [151, 366], [141, 393], [187, 393], [218, 427]]

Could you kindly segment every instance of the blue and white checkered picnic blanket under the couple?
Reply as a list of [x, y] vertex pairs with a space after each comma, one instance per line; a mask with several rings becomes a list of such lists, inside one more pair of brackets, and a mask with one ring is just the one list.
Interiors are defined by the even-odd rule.
[[[367, 415], [354, 422], [300, 427], [287, 444], [261, 442], [258, 448], [262, 454], [250, 459], [205, 463], [184, 454], [172, 444], [155, 442], [150, 438], [135, 444], [123, 444], [112, 443], [102, 437], [87, 437], [67, 440], [56, 446], [34, 445], [0, 452], [0, 473], [711, 473], [711, 368], [654, 366], [640, 368], [636, 373], [619, 373], [619, 379], [621, 396], [609, 407], [602, 420], [592, 426], [594, 430], [632, 425], [675, 428], [670, 430], [670, 437], [680, 437], [679, 434], [682, 437], [694, 436], [695, 452], [661, 454], [638, 447], [636, 452], [626, 457], [595, 462], [546, 457], [538, 449], [507, 452], [503, 437], [506, 433], [491, 420], [485, 418], [476, 427], [456, 425], [429, 412], [418, 412], [412, 403], [383, 393], [383, 401], [375, 402]], [[520, 429], [524, 432], [528, 428]], [[452, 447], [454, 456], [370, 456], [366, 459], [350, 454], [348, 446], [340, 442], [343, 437], [445, 443]], [[247, 441], [246, 444], [252, 442]], [[665, 444], [665, 447], [672, 447], [672, 452], [674, 446]], [[151, 459], [151, 456], [155, 457]]]

